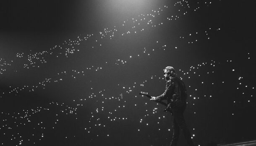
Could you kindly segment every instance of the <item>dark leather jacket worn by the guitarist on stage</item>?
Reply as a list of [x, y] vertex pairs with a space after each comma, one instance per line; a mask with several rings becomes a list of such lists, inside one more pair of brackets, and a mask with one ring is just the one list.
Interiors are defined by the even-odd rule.
[[167, 103], [171, 101], [186, 102], [187, 90], [183, 81], [177, 77], [171, 77], [166, 82], [165, 92], [162, 95], [156, 97], [156, 101], [167, 100]]

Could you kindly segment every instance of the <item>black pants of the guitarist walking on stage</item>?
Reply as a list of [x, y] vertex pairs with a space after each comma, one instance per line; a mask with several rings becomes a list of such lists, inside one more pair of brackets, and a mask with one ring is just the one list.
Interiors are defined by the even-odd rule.
[[191, 134], [189, 132], [189, 129], [185, 123], [185, 119], [183, 116], [183, 113], [186, 108], [186, 103], [180, 103], [179, 105], [171, 108], [172, 114], [173, 114], [173, 136], [172, 136], [172, 142], [170, 143], [170, 146], [177, 146], [180, 129], [183, 131], [183, 135], [185, 136], [185, 140], [188, 143], [188, 146], [194, 146], [193, 141], [191, 139]]

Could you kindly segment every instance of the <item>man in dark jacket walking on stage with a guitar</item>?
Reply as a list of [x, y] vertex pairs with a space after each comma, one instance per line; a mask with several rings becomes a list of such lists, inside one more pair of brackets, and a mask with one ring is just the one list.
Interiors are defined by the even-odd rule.
[[187, 91], [185, 84], [180, 78], [177, 78], [175, 70], [171, 66], [167, 66], [164, 72], [166, 87], [165, 92], [157, 97], [152, 96], [150, 100], [162, 101], [167, 100], [168, 108], [171, 108], [173, 114], [173, 136], [170, 146], [177, 146], [180, 129], [189, 146], [194, 146], [191, 140], [191, 134], [185, 123], [183, 113], [186, 108]]

